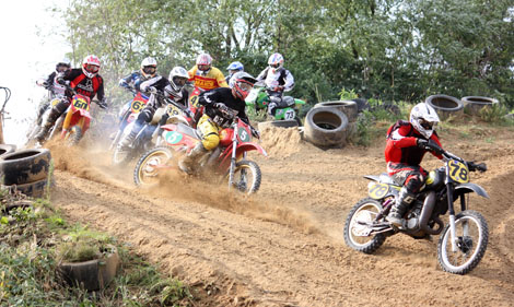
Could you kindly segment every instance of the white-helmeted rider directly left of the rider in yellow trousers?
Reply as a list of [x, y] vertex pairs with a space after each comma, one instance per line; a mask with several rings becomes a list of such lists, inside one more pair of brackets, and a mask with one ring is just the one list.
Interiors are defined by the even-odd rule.
[[[170, 71], [168, 78], [162, 75], [155, 75], [140, 84], [141, 92], [150, 92], [152, 95], [150, 96], [147, 106], [144, 106], [144, 108], [139, 113], [130, 133], [119, 142], [119, 146], [121, 146], [121, 149], [126, 149], [133, 142], [144, 122], [152, 121], [153, 115], [157, 108], [165, 106], [163, 97], [155, 95], [157, 92], [163, 92], [167, 98], [183, 105], [183, 110], [192, 117], [192, 114], [187, 109], [189, 92], [184, 87], [189, 78], [187, 70], [183, 67], [174, 67]], [[167, 115], [163, 116], [162, 121], [165, 122], [165, 120], [167, 120]]]

